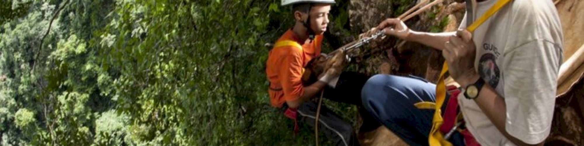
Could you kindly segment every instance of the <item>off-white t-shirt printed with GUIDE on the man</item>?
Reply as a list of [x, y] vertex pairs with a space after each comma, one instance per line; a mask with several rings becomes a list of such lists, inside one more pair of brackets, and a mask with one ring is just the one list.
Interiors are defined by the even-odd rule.
[[[479, 2], [479, 18], [498, 0]], [[466, 19], [466, 16], [465, 16]], [[461, 28], [466, 27], [463, 19]], [[515, 0], [473, 33], [475, 68], [505, 99], [507, 133], [536, 144], [550, 133], [559, 66], [562, 27], [550, 0]], [[479, 97], [480, 98], [480, 97]], [[481, 145], [514, 145], [474, 100], [458, 96], [468, 130]]]

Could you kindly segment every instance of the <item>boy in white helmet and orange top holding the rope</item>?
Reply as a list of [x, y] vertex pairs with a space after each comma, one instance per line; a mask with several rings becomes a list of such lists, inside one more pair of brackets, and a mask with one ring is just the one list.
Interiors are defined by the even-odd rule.
[[[333, 0], [283, 0], [282, 5], [292, 5], [295, 24], [276, 41], [266, 62], [266, 75], [270, 82], [269, 96], [272, 106], [281, 108], [284, 114], [295, 121], [314, 127], [317, 103], [310, 99], [320, 95], [324, 98], [360, 106], [360, 89], [369, 77], [354, 72], [342, 72], [343, 61], [327, 64], [327, 69], [318, 81], [303, 85], [304, 67], [321, 53], [323, 33], [328, 26], [328, 16]], [[342, 59], [344, 60], [344, 58]], [[347, 78], [350, 77], [350, 78]], [[359, 145], [352, 124], [340, 116], [321, 107], [319, 130], [332, 138], [336, 145]], [[376, 120], [367, 119], [364, 122]], [[374, 127], [374, 126], [372, 126]], [[376, 127], [375, 127], [376, 128]], [[371, 128], [363, 128], [370, 130]], [[361, 130], [361, 131], [363, 131]]]

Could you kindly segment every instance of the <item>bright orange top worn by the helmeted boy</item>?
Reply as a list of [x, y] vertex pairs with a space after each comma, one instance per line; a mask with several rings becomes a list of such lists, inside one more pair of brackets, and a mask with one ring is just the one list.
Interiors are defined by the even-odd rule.
[[268, 93], [272, 106], [282, 107], [284, 102], [297, 100], [304, 93], [304, 67], [308, 61], [321, 54], [321, 43], [322, 35], [316, 36], [311, 43], [304, 43], [292, 30], [286, 31], [276, 41], [266, 62], [266, 76], [270, 82]]

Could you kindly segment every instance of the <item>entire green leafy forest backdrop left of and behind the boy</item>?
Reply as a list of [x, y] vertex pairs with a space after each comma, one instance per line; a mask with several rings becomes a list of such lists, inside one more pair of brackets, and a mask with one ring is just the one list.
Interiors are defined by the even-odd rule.
[[280, 1], [0, 2], [0, 145], [314, 144], [267, 97]]

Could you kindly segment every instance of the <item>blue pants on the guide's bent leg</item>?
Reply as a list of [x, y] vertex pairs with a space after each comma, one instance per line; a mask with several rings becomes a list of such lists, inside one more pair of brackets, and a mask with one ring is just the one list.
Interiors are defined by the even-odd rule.
[[[364, 109], [409, 145], [428, 145], [434, 110], [418, 109], [413, 104], [434, 102], [435, 91], [436, 85], [420, 77], [380, 74], [369, 78], [361, 89], [361, 99]], [[449, 141], [464, 145], [460, 133], [454, 133]]]

